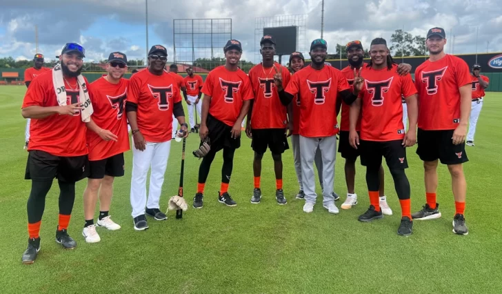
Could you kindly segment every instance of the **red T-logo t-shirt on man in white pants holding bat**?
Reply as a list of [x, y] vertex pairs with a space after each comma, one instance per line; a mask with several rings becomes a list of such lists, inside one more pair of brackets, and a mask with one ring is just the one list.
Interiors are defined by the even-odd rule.
[[130, 79], [127, 99], [138, 105], [138, 128], [146, 141], [160, 143], [171, 139], [172, 107], [181, 101], [173, 75], [153, 75], [150, 70], [137, 72]]

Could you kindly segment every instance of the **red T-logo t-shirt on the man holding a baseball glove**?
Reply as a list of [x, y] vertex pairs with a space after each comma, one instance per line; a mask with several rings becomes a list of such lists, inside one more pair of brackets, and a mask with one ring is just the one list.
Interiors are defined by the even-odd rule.
[[211, 70], [202, 92], [211, 97], [210, 115], [228, 126], [234, 126], [243, 101], [254, 98], [248, 75], [242, 70], [231, 72], [225, 66]]

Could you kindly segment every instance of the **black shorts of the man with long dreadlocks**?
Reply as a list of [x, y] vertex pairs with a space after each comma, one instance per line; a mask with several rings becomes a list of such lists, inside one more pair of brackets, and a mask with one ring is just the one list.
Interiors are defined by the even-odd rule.
[[363, 166], [379, 167], [382, 157], [385, 157], [390, 169], [408, 168], [406, 148], [401, 145], [403, 140], [393, 141], [365, 141], [359, 140], [361, 148], [361, 164]]

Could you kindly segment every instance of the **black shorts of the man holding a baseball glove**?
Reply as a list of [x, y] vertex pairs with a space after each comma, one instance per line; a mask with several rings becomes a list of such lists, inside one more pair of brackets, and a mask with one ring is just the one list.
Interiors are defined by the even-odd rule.
[[[232, 138], [232, 127], [215, 119], [212, 115], [208, 114], [206, 121], [208, 126], [211, 150], [218, 152], [223, 147], [237, 149], [241, 147], [241, 137]], [[202, 145], [202, 142], [201, 142]]]

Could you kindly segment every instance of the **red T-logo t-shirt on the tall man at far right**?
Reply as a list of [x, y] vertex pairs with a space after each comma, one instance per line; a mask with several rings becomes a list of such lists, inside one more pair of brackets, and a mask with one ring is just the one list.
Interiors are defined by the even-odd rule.
[[454, 130], [460, 122], [460, 90], [472, 84], [469, 66], [459, 57], [445, 55], [415, 70], [419, 92], [419, 128]]

